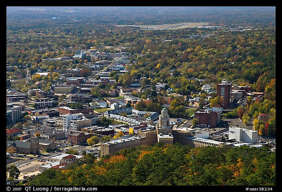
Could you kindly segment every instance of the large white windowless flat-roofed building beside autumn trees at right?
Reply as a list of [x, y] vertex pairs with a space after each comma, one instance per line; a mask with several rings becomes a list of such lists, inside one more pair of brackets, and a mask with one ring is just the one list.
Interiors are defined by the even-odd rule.
[[258, 131], [246, 128], [229, 127], [228, 139], [235, 139], [236, 141], [257, 144]]

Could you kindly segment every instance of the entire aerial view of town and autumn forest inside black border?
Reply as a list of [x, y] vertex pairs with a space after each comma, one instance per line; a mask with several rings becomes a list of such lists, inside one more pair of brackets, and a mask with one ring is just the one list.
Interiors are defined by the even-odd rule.
[[272, 191], [276, 7], [7, 6], [6, 186]]

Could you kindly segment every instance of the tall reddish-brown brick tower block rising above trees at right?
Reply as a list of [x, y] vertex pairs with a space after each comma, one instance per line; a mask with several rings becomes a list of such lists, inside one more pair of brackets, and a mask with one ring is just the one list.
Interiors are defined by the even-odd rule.
[[227, 107], [231, 102], [231, 84], [227, 81], [222, 81], [217, 85], [217, 96], [220, 96], [220, 104], [223, 107]]

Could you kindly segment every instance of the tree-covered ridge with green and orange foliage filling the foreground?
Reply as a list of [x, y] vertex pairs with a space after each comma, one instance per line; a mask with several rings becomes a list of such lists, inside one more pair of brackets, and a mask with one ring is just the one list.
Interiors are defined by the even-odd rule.
[[262, 149], [194, 148], [180, 144], [122, 149], [99, 161], [85, 155], [66, 170], [49, 169], [28, 185], [267, 186], [276, 185], [276, 154]]

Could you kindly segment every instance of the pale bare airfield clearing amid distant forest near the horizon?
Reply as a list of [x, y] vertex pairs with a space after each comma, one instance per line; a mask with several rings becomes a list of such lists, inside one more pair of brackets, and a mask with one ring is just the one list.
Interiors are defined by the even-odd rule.
[[140, 27], [140, 29], [183, 29], [183, 28], [192, 28], [192, 27], [203, 27], [208, 26], [209, 22], [182, 22], [182, 23], [166, 23], [159, 25], [116, 25], [119, 27], [131, 26], [131, 27]]

